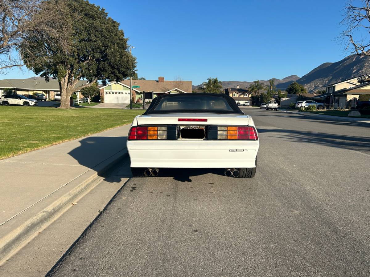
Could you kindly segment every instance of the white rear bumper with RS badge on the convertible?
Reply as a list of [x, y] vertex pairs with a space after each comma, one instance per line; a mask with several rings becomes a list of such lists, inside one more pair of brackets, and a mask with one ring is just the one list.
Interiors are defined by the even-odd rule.
[[256, 167], [259, 141], [128, 141], [131, 167]]

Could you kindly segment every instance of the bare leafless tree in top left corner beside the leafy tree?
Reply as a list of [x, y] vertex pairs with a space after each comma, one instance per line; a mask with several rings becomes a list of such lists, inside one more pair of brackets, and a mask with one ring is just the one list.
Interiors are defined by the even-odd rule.
[[[27, 47], [25, 38], [30, 33], [48, 44], [67, 46], [65, 36], [71, 30], [71, 23], [61, 13], [64, 6], [65, 3], [48, 5], [41, 14], [40, 0], [0, 0], [0, 74], [26, 65], [19, 53], [21, 44], [28, 56], [37, 53], [34, 48]], [[41, 63], [43, 57], [37, 60]]]

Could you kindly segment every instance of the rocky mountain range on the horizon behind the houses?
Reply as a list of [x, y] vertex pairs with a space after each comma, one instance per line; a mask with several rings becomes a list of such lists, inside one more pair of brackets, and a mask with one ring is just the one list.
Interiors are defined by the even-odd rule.
[[[312, 71], [299, 78], [297, 75], [291, 75], [283, 79], [272, 78], [275, 81], [276, 88], [282, 90], [296, 81], [305, 86], [309, 92], [319, 90], [325, 85], [336, 83], [342, 80], [351, 79], [357, 76], [370, 73], [370, 56], [350, 55], [338, 62], [325, 62], [317, 66]], [[271, 80], [271, 79], [270, 79]], [[264, 85], [269, 83], [269, 80], [260, 80]], [[246, 81], [223, 81], [223, 88], [248, 88], [253, 82]], [[193, 86], [193, 90], [198, 89], [201, 85]]]

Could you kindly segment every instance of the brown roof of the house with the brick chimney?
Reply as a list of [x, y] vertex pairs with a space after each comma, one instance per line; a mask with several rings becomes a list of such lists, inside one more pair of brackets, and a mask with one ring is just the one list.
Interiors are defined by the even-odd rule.
[[[130, 80], [123, 80], [121, 83], [130, 86]], [[164, 81], [158, 82], [157, 80], [132, 80], [133, 86], [140, 86], [138, 90], [140, 92], [168, 92], [172, 89], [179, 89], [184, 92], [192, 91], [192, 81]]]

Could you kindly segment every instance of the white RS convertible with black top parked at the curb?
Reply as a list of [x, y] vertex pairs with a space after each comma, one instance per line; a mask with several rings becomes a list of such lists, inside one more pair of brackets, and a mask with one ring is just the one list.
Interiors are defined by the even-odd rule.
[[222, 168], [228, 177], [251, 178], [258, 148], [252, 117], [214, 93], [158, 96], [127, 138], [134, 177], [156, 177], [160, 168]]

